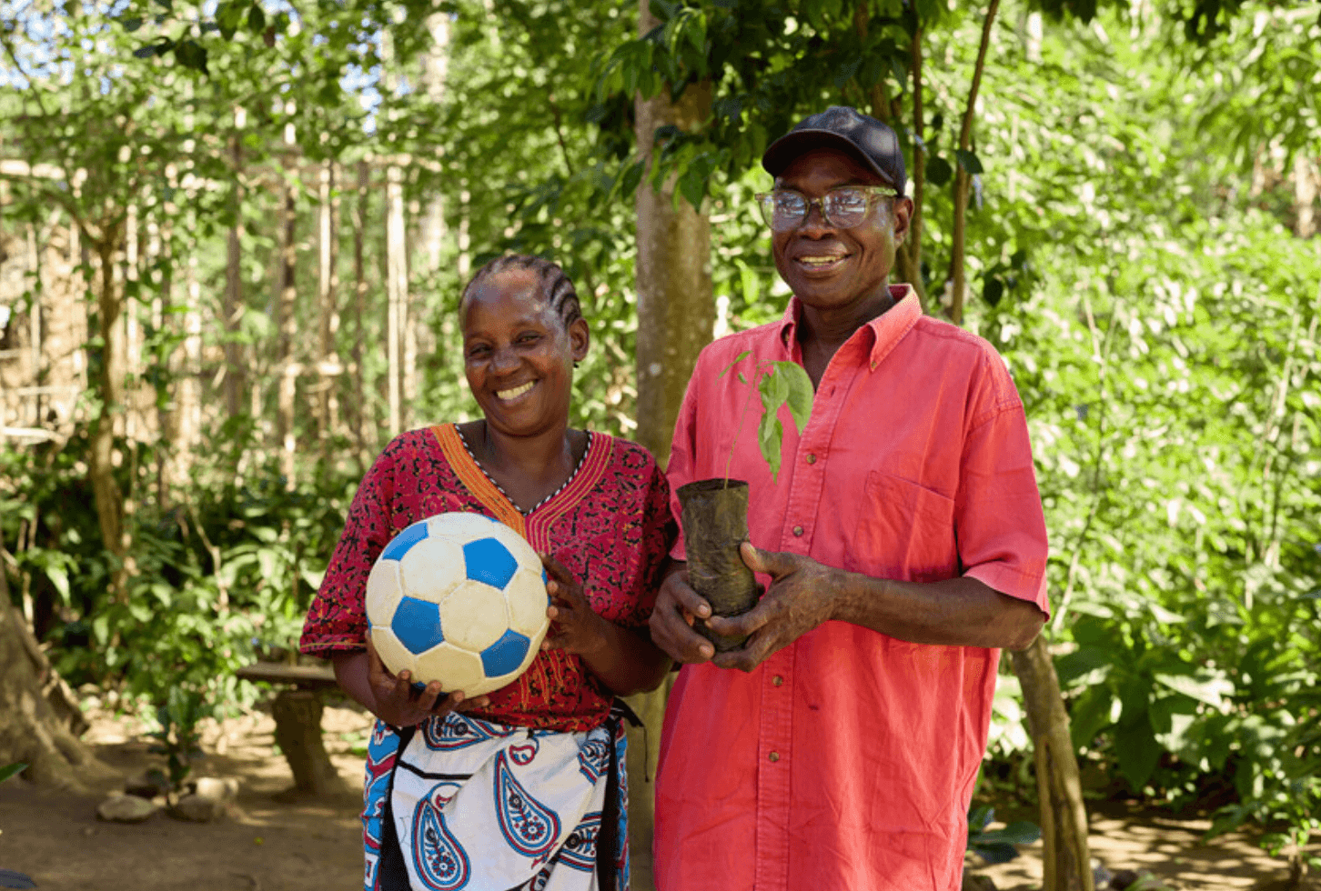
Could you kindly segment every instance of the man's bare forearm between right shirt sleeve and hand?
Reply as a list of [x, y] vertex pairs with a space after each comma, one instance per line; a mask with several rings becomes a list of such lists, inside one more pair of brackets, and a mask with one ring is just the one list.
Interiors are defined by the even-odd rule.
[[896, 582], [840, 573], [832, 618], [922, 644], [1024, 649], [1045, 622], [1036, 603], [971, 577]]

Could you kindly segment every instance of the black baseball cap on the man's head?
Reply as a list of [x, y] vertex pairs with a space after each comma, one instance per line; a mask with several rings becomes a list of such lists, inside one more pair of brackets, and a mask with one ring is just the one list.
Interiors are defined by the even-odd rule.
[[761, 156], [761, 166], [778, 177], [794, 158], [816, 148], [838, 148], [856, 154], [904, 194], [908, 176], [900, 137], [881, 121], [848, 106], [831, 106], [798, 121], [794, 129], [770, 144]]

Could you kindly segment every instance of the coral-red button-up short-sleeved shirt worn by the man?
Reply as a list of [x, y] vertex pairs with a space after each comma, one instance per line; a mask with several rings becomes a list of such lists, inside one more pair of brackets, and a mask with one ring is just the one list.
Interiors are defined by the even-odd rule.
[[[757, 447], [760, 404], [748, 412], [732, 475], [749, 482], [752, 541], [875, 578], [972, 576], [1045, 611], [1045, 519], [1004, 362], [922, 315], [906, 285], [892, 293], [831, 359], [802, 436], [782, 409], [778, 480]], [[703, 351], [671, 490], [724, 475], [746, 389], [720, 371], [744, 350], [802, 363], [799, 312], [794, 298], [782, 321]], [[740, 368], [750, 376], [750, 360]], [[657, 887], [958, 888], [997, 664], [997, 649], [827, 622], [750, 673], [684, 667], [660, 738]]]

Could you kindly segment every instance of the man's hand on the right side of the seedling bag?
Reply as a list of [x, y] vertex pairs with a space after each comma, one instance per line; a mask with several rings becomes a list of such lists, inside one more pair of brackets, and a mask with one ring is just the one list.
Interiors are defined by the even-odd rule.
[[845, 573], [802, 554], [760, 550], [744, 541], [740, 553], [754, 573], [770, 576], [770, 587], [752, 610], [732, 619], [712, 616], [712, 631], [750, 635], [738, 649], [716, 653], [720, 668], [750, 672], [775, 651], [835, 618]]

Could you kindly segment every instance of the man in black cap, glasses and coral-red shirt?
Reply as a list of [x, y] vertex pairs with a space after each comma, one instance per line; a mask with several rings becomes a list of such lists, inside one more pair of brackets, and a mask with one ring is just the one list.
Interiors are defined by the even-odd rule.
[[[723, 477], [733, 447], [742, 557], [766, 591], [713, 618], [679, 562], [658, 595], [653, 639], [686, 665], [662, 731], [657, 887], [951, 891], [997, 648], [1046, 618], [1022, 403], [988, 343], [888, 285], [913, 213], [893, 131], [832, 107], [762, 165], [794, 296], [782, 321], [703, 351], [668, 477]], [[801, 363], [816, 388], [775, 480], [754, 434], [731, 446], [746, 389], [720, 372], [744, 351]], [[750, 638], [716, 655], [694, 622]]]

